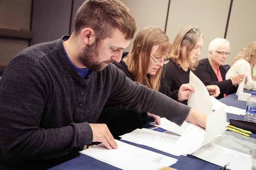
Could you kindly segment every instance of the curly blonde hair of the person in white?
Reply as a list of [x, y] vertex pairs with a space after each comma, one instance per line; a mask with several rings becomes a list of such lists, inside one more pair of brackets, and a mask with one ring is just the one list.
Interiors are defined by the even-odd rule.
[[232, 65], [239, 59], [245, 59], [249, 63], [256, 59], [256, 41], [253, 41], [250, 44], [247, 44], [245, 48], [242, 48], [233, 60]]

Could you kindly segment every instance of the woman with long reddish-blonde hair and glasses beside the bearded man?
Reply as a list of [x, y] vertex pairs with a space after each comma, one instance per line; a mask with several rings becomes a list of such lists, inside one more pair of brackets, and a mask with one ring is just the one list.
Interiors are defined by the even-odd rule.
[[[162, 76], [162, 67], [169, 62], [167, 55], [171, 49], [169, 38], [160, 28], [147, 27], [139, 31], [128, 55], [121, 62], [114, 62], [114, 64], [128, 78], [183, 102], [188, 99], [194, 89], [184, 84], [180, 86], [179, 91], [171, 92]], [[136, 128], [142, 128], [147, 122], [153, 120], [152, 118], [158, 125], [160, 124], [159, 116], [128, 110], [123, 108], [118, 101], [108, 101], [98, 122], [106, 123], [113, 136], [118, 138]]]

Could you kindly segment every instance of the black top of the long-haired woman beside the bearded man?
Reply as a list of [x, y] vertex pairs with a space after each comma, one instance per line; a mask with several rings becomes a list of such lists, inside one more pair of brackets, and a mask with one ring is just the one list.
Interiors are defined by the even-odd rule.
[[[127, 77], [133, 80], [123, 60], [121, 60], [121, 62], [114, 62], [114, 64], [122, 70]], [[178, 91], [171, 92], [169, 90], [165, 77], [161, 77], [160, 82], [159, 91], [177, 100]], [[107, 124], [114, 138], [119, 139], [118, 136], [129, 133], [137, 128], [142, 128], [151, 120], [151, 117], [148, 117], [146, 112], [140, 113], [136, 110], [126, 109], [120, 102], [108, 101], [102, 110], [102, 115], [99, 117], [98, 122]]]

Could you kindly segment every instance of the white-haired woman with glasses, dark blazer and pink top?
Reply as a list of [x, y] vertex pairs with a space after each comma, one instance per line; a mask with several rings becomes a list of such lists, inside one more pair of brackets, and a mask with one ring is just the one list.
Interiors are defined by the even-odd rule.
[[223, 67], [227, 56], [230, 54], [230, 43], [224, 38], [215, 38], [208, 47], [209, 57], [201, 59], [194, 71], [204, 85], [218, 85], [221, 94], [216, 97], [220, 99], [228, 94], [235, 93], [237, 85], [243, 81], [245, 75], [239, 74], [230, 79], [225, 79], [226, 70]]

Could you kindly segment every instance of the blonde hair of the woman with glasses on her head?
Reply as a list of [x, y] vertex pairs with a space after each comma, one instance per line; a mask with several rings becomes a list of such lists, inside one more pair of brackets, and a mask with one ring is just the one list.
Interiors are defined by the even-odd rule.
[[192, 64], [190, 62], [189, 54], [195, 48], [201, 37], [203, 37], [203, 34], [198, 28], [195, 28], [194, 26], [185, 26], [181, 28], [180, 31], [178, 31], [175, 39], [173, 40], [173, 48], [169, 58], [171, 58], [172, 61], [178, 66], [178, 62], [183, 61], [181, 48], [186, 46], [187, 56], [185, 62], [188, 62], [190, 70], [194, 70], [195, 67], [198, 65], [198, 62]]

